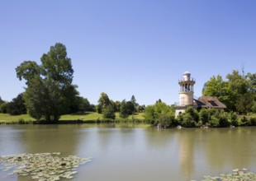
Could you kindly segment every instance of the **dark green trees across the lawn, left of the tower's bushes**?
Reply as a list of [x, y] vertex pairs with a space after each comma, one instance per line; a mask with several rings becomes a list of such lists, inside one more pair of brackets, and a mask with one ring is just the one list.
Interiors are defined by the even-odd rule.
[[55, 122], [63, 114], [97, 111], [104, 118], [115, 118], [114, 113], [120, 112], [121, 118], [127, 118], [135, 111], [145, 109], [145, 106], [136, 103], [134, 95], [129, 101], [113, 101], [102, 92], [97, 105], [79, 96], [78, 86], [72, 83], [73, 67], [64, 44], [51, 46], [50, 51], [41, 56], [40, 63], [23, 61], [16, 67], [17, 78], [26, 81], [26, 88], [11, 102], [3, 101], [0, 97], [1, 113], [27, 113], [36, 120]]

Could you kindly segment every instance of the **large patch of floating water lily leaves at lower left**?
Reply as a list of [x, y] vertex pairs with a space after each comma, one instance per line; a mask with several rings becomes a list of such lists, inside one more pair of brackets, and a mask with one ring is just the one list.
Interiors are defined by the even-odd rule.
[[38, 181], [55, 181], [60, 178], [72, 179], [77, 174], [75, 168], [91, 161], [90, 158], [79, 158], [75, 155], [59, 157], [59, 152], [20, 155], [4, 155], [0, 157], [2, 171], [9, 174], [31, 176]]

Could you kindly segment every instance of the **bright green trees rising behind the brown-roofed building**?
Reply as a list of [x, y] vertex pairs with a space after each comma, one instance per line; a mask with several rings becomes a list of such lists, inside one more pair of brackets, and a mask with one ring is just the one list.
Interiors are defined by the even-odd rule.
[[230, 111], [247, 114], [251, 112], [256, 98], [256, 75], [241, 75], [235, 70], [227, 74], [226, 80], [221, 76], [211, 77], [205, 83], [203, 95], [217, 97]]

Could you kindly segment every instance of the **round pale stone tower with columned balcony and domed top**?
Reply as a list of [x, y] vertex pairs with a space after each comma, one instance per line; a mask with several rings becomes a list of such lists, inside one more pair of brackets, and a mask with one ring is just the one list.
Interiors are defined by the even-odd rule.
[[179, 105], [189, 106], [193, 104], [194, 85], [196, 81], [191, 77], [190, 72], [184, 72], [183, 78], [178, 80], [179, 90]]

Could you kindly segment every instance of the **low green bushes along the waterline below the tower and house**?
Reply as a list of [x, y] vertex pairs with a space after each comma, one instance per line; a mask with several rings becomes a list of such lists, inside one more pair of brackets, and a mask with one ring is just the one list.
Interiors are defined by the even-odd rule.
[[145, 123], [158, 128], [220, 128], [230, 126], [256, 126], [256, 118], [239, 116], [233, 111], [225, 112], [217, 109], [194, 109], [187, 107], [184, 114], [175, 117], [174, 105], [156, 102], [145, 108]]

